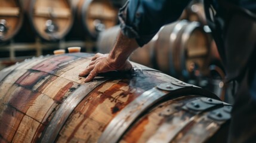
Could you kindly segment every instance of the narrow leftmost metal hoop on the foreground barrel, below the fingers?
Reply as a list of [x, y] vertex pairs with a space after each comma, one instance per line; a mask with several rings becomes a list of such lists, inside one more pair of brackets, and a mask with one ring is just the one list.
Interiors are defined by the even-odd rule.
[[48, 123], [47, 128], [42, 133], [40, 142], [54, 142], [75, 107], [98, 85], [106, 82], [109, 78], [102, 80], [94, 80], [93, 82], [84, 83], [76, 89], [67, 99], [61, 104], [60, 108], [54, 114], [53, 119]]

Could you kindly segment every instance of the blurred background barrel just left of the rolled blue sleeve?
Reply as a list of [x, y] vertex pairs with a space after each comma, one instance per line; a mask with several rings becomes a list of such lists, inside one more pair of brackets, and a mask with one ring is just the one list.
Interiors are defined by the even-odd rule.
[[118, 23], [118, 8], [109, 0], [77, 0], [73, 5], [77, 8], [75, 23], [67, 39], [94, 41], [99, 32]]

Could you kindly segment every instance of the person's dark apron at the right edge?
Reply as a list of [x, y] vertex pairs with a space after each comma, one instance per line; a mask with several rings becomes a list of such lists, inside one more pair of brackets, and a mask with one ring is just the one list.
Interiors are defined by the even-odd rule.
[[256, 15], [223, 0], [205, 0], [205, 13], [226, 70], [226, 80], [239, 83], [233, 95], [229, 142], [255, 142]]

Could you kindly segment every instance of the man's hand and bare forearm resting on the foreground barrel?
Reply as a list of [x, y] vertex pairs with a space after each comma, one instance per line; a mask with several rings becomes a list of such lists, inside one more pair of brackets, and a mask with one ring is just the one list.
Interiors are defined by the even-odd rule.
[[127, 71], [132, 68], [127, 60], [129, 55], [138, 48], [135, 39], [130, 39], [119, 32], [115, 46], [109, 54], [95, 54], [89, 66], [79, 76], [87, 76], [85, 82], [90, 82], [98, 73], [119, 70]]

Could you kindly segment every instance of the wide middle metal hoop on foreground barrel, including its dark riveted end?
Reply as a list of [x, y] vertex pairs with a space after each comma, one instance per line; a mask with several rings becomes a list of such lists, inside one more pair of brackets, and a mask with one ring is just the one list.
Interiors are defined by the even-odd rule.
[[[174, 81], [175, 82], [175, 81]], [[156, 102], [161, 101], [164, 98], [169, 97], [169, 94], [172, 92], [174, 95], [177, 95], [180, 89], [184, 89], [184, 92], [181, 94], [186, 94], [190, 92], [190, 94], [199, 93], [197, 91], [196, 86], [188, 86], [187, 83], [185, 85], [177, 85], [171, 84], [171, 88], [169, 90], [162, 89], [161, 87], [150, 89], [149, 91], [144, 92], [130, 104], [128, 104], [110, 123], [107, 125], [104, 132], [101, 134], [98, 142], [118, 142], [119, 139], [122, 138], [122, 135], [127, 131], [130, 125], [137, 119], [138, 116], [144, 113], [144, 111], [148, 110], [152, 105]], [[160, 90], [161, 89], [161, 90]], [[202, 89], [200, 89], [201, 91]], [[202, 90], [203, 91], [203, 90]], [[217, 97], [209, 94], [209, 93], [201, 93], [199, 95], [215, 98]]]

